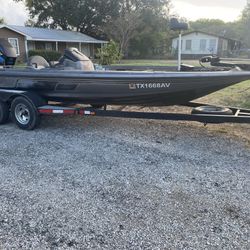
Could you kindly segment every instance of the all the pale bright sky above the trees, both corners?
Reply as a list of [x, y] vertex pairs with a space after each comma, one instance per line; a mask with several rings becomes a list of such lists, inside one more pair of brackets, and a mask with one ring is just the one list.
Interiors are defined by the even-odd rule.
[[[192, 21], [215, 18], [229, 22], [239, 18], [246, 3], [247, 0], [172, 0], [172, 14]], [[0, 17], [4, 17], [7, 24], [24, 25], [28, 12], [22, 3], [0, 0]]]

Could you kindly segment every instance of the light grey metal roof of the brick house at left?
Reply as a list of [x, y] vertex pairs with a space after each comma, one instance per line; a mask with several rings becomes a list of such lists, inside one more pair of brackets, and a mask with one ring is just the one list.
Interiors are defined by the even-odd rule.
[[2, 25], [0, 28], [7, 28], [26, 37], [29, 41], [57, 41], [57, 42], [77, 42], [77, 43], [107, 43], [106, 41], [95, 39], [80, 32], [45, 29], [36, 27], [24, 27], [17, 25]]

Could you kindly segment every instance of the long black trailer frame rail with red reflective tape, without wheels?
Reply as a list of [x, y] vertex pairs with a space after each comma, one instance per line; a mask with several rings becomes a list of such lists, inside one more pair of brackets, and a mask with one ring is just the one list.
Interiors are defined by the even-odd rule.
[[[184, 105], [183, 105], [184, 106]], [[202, 107], [208, 106], [204, 103], [191, 102], [185, 107]], [[211, 106], [213, 107], [213, 106]], [[218, 106], [216, 106], [218, 108]], [[224, 107], [221, 107], [224, 108]], [[167, 121], [195, 121], [204, 124], [208, 123], [250, 123], [250, 109], [240, 109], [227, 107], [232, 110], [231, 115], [227, 114], [184, 114], [184, 113], [160, 113], [160, 112], [137, 112], [137, 111], [121, 111], [108, 110], [105, 106], [103, 109], [95, 108], [74, 108], [62, 107], [54, 105], [46, 105], [38, 107], [41, 115], [81, 115], [81, 116], [99, 116], [113, 118], [134, 118], [147, 120], [167, 120]]]

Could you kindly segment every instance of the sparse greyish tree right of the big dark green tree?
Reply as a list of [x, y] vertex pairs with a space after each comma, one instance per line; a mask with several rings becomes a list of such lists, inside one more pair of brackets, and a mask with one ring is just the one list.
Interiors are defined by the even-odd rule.
[[120, 0], [119, 16], [109, 20], [105, 32], [108, 37], [118, 41], [121, 53], [126, 57], [129, 48], [132, 48], [133, 53], [130, 54], [133, 55], [149, 54], [158, 46], [156, 43], [164, 40], [157, 39], [162, 38], [163, 32], [167, 30], [165, 7], [169, 3], [169, 0]]

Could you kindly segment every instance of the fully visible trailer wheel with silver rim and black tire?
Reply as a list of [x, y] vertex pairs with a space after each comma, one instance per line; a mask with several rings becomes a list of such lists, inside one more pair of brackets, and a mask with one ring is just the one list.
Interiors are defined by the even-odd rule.
[[24, 97], [17, 97], [12, 101], [11, 118], [24, 130], [33, 130], [40, 123], [40, 115], [35, 105]]

